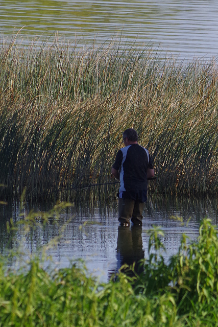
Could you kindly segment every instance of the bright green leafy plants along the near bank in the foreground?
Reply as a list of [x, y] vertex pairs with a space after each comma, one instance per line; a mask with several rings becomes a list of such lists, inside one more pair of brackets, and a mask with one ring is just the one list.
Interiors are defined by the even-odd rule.
[[198, 240], [187, 242], [183, 235], [168, 264], [162, 236], [159, 227], [150, 231], [149, 257], [140, 275], [120, 271], [116, 282], [102, 284], [79, 263], [49, 271], [32, 258], [28, 270], [12, 271], [2, 257], [0, 327], [218, 326], [215, 226], [205, 219]]

